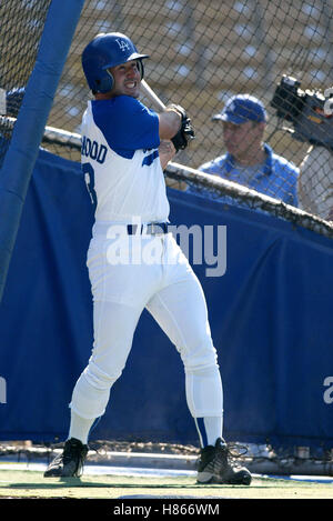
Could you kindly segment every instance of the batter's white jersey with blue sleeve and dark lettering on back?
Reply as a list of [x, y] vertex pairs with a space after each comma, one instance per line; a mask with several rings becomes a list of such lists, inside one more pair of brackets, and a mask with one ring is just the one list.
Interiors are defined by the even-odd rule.
[[81, 161], [95, 220], [167, 222], [169, 201], [159, 150], [158, 114], [139, 100], [93, 100], [82, 119]]

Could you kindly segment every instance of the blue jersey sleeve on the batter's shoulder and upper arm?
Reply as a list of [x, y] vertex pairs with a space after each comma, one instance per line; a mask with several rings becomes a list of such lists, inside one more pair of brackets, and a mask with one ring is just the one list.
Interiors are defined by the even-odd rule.
[[92, 113], [109, 147], [124, 158], [131, 159], [135, 150], [160, 146], [157, 112], [134, 98], [92, 101]]

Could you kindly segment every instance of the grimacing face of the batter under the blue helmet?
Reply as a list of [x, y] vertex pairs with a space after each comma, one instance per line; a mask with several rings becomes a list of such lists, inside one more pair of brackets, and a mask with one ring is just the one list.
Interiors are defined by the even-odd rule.
[[111, 91], [112, 96], [131, 96], [139, 98], [141, 74], [135, 60], [111, 67], [114, 84]]

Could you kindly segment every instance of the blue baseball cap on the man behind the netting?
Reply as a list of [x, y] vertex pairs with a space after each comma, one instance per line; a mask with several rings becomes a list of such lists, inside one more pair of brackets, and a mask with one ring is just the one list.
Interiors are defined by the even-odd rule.
[[230, 121], [234, 124], [246, 121], [265, 122], [266, 111], [261, 101], [250, 94], [233, 96], [224, 106], [222, 112], [212, 117], [213, 121]]

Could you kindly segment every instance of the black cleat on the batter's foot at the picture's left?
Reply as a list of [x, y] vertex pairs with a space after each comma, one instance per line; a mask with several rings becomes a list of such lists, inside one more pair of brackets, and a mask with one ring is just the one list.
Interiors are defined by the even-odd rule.
[[44, 478], [79, 478], [83, 472], [88, 445], [71, 438], [64, 443], [61, 454], [57, 455], [44, 472]]

